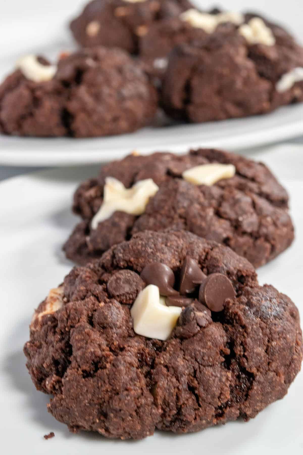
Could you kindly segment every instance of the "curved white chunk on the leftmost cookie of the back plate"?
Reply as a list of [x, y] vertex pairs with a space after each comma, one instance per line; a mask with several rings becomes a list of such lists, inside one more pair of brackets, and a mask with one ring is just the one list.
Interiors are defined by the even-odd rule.
[[26, 79], [34, 82], [46, 82], [53, 79], [57, 71], [55, 65], [42, 65], [35, 55], [28, 55], [20, 58], [16, 63]]

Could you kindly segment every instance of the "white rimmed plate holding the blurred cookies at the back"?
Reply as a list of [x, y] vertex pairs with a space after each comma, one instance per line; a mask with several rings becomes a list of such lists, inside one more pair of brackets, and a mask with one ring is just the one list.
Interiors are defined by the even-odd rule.
[[[0, 78], [14, 66], [20, 54], [35, 52], [54, 57], [70, 48], [72, 41], [66, 24], [80, 10], [82, 0], [41, 2], [19, 0], [3, 2], [0, 16]], [[212, 1], [195, 3], [207, 7]], [[223, 3], [223, 2], [222, 2]], [[301, 0], [254, 2], [230, 0], [230, 10], [262, 10], [273, 19], [290, 24], [303, 39]], [[15, 10], [19, 10], [18, 17]], [[10, 39], [8, 39], [8, 36]], [[5, 43], [5, 46], [3, 45]], [[242, 149], [302, 135], [303, 104], [287, 106], [266, 116], [211, 122], [198, 125], [144, 128], [133, 134], [98, 139], [39, 139], [0, 137], [0, 164], [22, 166], [66, 166], [104, 162], [122, 157], [134, 148], [142, 153], [174, 148], [183, 152], [189, 147], [224, 147]]]

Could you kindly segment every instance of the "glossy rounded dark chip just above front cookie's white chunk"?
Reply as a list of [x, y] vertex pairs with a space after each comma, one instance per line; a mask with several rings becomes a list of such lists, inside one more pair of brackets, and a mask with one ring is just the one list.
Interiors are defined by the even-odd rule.
[[168, 297], [169, 295], [176, 295], [174, 286], [174, 272], [167, 265], [160, 262], [153, 262], [144, 267], [140, 277], [146, 284], [154, 284], [158, 286], [161, 295]]

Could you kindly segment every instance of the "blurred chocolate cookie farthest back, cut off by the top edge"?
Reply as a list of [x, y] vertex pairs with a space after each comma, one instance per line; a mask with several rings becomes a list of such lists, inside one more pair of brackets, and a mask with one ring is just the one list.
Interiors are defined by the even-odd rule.
[[150, 24], [179, 16], [190, 7], [188, 0], [94, 0], [71, 22], [70, 29], [84, 47], [117, 46], [136, 53], [139, 37]]

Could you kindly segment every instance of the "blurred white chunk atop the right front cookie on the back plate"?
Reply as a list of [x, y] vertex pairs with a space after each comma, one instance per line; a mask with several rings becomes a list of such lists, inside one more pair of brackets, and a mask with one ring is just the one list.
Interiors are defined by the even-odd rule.
[[242, 35], [249, 44], [264, 44], [273, 46], [276, 39], [272, 30], [265, 24], [260, 17], [253, 17], [248, 24], [239, 27], [239, 34]]

